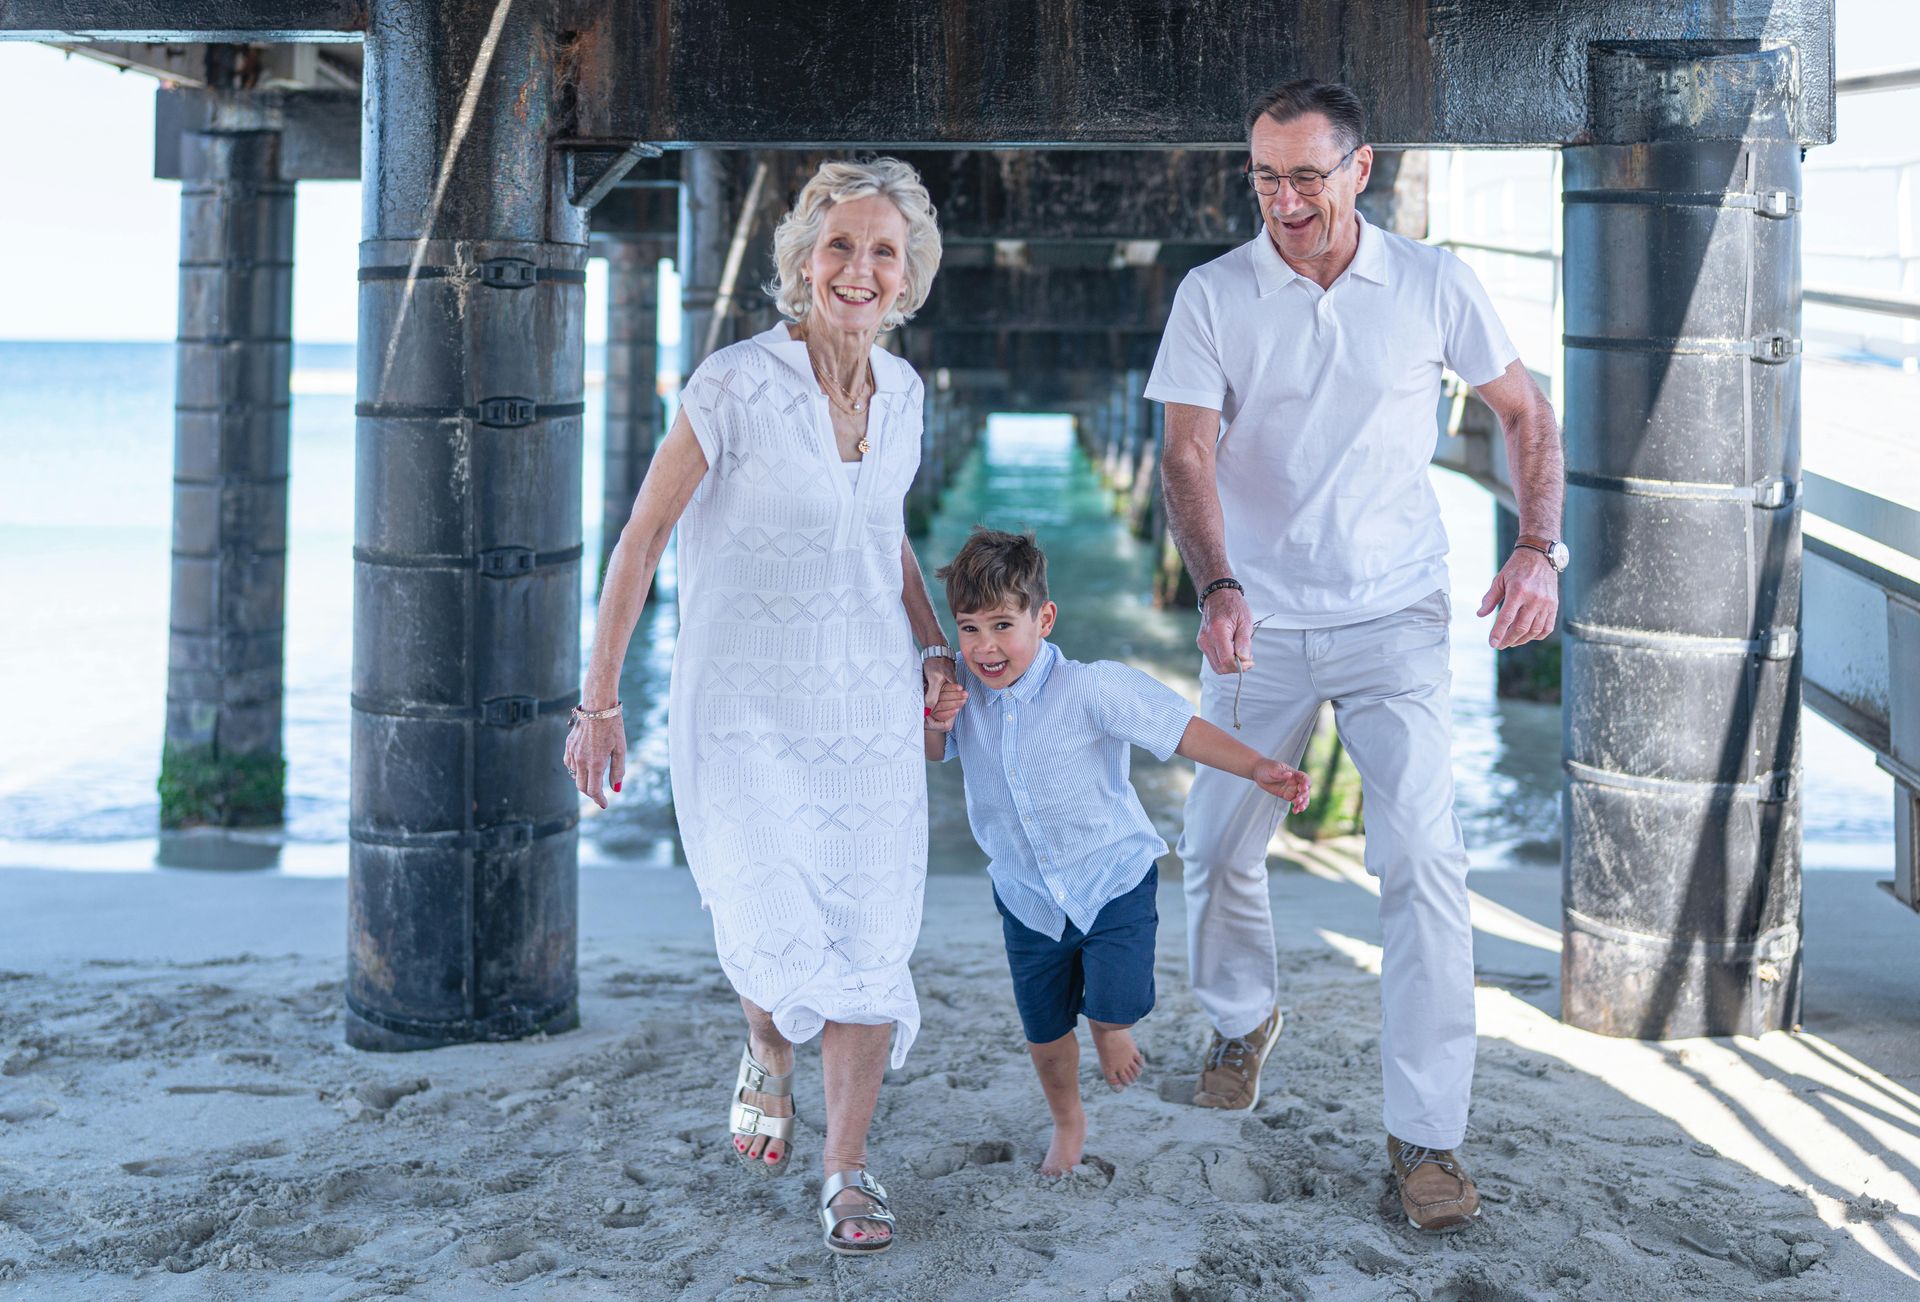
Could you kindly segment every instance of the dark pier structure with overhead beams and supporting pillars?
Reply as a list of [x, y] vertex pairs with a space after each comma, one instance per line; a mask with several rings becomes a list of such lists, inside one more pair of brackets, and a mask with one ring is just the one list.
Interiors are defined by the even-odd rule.
[[[278, 808], [292, 196], [365, 182], [351, 1043], [576, 1016], [586, 259], [612, 286], [609, 538], [662, 430], [659, 261], [685, 374], [772, 323], [772, 227], [814, 165], [881, 150], [947, 242], [891, 342], [927, 382], [910, 522], [989, 411], [1046, 409], [1164, 538], [1144, 371], [1181, 277], [1260, 230], [1244, 106], [1292, 77], [1367, 102], [1361, 207], [1415, 238], [1417, 150], [1567, 150], [1565, 1016], [1795, 1022], [1795, 213], [1834, 133], [1828, 0], [0, 0], [0, 38], [167, 84], [167, 747], [215, 793], [190, 820]], [[1190, 597], [1171, 547], [1162, 578]]]

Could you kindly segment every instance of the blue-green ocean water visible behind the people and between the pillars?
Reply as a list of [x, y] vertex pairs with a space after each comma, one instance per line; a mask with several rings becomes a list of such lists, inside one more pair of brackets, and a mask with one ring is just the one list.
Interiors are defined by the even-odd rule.
[[[589, 373], [599, 357], [589, 355]], [[300, 346], [288, 524], [288, 822], [278, 864], [344, 872], [351, 653], [353, 355]], [[586, 421], [588, 555], [599, 547], [601, 390]], [[132, 868], [154, 862], [167, 674], [173, 474], [169, 344], [0, 342], [0, 862]], [[1478, 488], [1434, 470], [1453, 543], [1453, 722], [1459, 812], [1480, 864], [1557, 864], [1559, 711], [1494, 697], [1486, 620], [1494, 513]], [[1064, 419], [996, 417], [947, 495], [922, 561], [931, 572], [975, 520], [1033, 526], [1077, 659], [1123, 659], [1196, 693], [1194, 616], [1154, 611], [1148, 549], [1106, 509]], [[666, 574], [670, 582], [670, 567]], [[584, 567], [582, 643], [591, 634]], [[651, 603], [622, 695], [632, 759], [614, 807], [582, 822], [582, 858], [678, 862], [666, 784], [666, 674], [676, 616]], [[1872, 755], [1814, 714], [1805, 728], [1807, 864], [1887, 872], [1893, 787]], [[968, 868], [958, 772], [933, 774], [935, 868]], [[1137, 782], [1177, 830], [1183, 762], [1140, 757]], [[591, 807], [589, 807], [591, 808]]]

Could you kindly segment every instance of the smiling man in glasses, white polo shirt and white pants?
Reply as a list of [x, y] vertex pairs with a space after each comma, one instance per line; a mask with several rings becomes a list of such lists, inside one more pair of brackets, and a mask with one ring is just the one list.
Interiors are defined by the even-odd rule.
[[[1521, 543], [1480, 603], [1544, 638], [1567, 565], [1553, 411], [1473, 273], [1356, 209], [1373, 150], [1346, 86], [1248, 113], [1263, 230], [1192, 271], [1146, 398], [1165, 403], [1173, 538], [1200, 584], [1200, 712], [1298, 764], [1332, 701], [1380, 880], [1386, 1148], [1413, 1225], [1478, 1214], [1455, 1148], [1473, 1087], [1473, 929], [1453, 816], [1446, 532], [1427, 482], [1442, 369], [1498, 413]], [[1281, 1031], [1267, 841], [1283, 805], [1202, 770], [1187, 799], [1192, 985], [1213, 1024], [1194, 1102], [1252, 1108]]]

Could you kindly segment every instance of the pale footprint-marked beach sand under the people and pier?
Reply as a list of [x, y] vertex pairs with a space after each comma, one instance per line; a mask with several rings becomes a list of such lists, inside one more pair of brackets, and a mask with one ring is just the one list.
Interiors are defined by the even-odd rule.
[[0, 1298], [1920, 1296], [1908, 1085], [1818, 1035], [1559, 1025], [1536, 1006], [1542, 874], [1475, 874], [1463, 1156], [1486, 1216], [1411, 1231], [1384, 1177], [1373, 897], [1352, 847], [1298, 862], [1273, 874], [1288, 1022], [1258, 1108], [1185, 1102], [1202, 1022], [1175, 880], [1150, 1066], [1116, 1095], [1085, 1056], [1066, 1181], [1033, 1171], [1046, 1112], [985, 881], [933, 878], [922, 1039], [872, 1143], [899, 1242], [858, 1262], [812, 1212], [814, 1047], [795, 1173], [726, 1143], [741, 1022], [680, 874], [584, 872], [580, 1031], [376, 1056], [342, 1043], [338, 880], [0, 872]]

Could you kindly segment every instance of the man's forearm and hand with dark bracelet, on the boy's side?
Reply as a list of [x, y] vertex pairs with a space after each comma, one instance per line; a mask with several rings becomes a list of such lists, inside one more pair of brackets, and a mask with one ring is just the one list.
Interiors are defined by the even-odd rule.
[[[1167, 494], [1167, 528], [1181, 549], [1187, 572], [1206, 588], [1215, 578], [1231, 578], [1227, 565], [1227, 522], [1219, 511], [1213, 482], [1213, 444], [1219, 440], [1219, 413], [1212, 407], [1167, 403], [1167, 438], [1160, 474]], [[1217, 674], [1236, 674], [1254, 666], [1254, 613], [1235, 588], [1221, 588], [1200, 607], [1200, 651]]]

